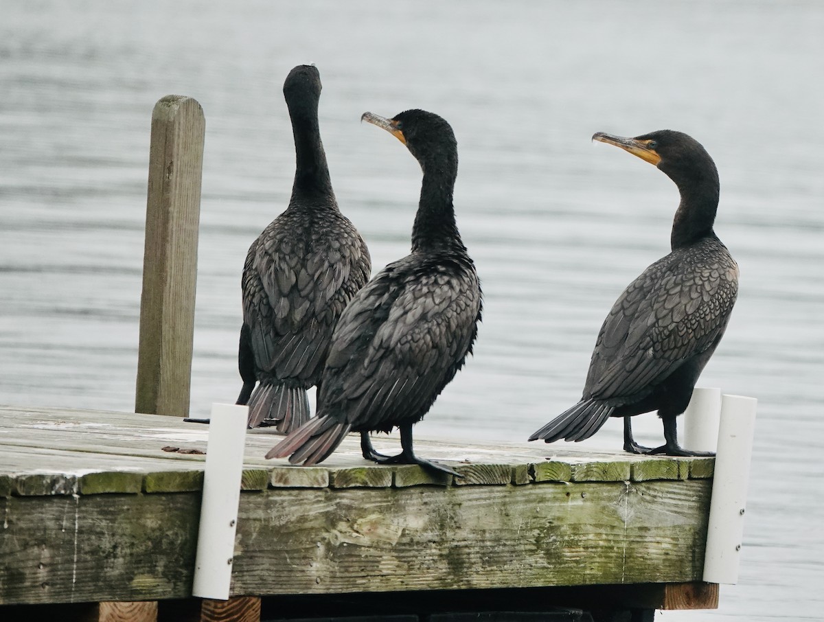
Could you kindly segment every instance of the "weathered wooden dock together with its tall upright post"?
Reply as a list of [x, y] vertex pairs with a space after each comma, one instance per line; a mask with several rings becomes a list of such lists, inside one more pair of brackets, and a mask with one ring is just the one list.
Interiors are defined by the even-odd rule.
[[0, 620], [642, 622], [718, 606], [701, 582], [714, 459], [416, 437], [454, 478], [364, 461], [354, 436], [317, 467], [265, 461], [261, 430], [230, 523], [232, 597], [194, 598], [208, 427], [183, 417], [203, 145], [196, 101], [157, 102], [135, 410], [165, 416], [0, 406]]

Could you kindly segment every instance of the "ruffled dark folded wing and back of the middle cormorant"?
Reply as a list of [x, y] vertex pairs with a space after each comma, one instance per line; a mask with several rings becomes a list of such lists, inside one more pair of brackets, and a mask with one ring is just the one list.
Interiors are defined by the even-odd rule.
[[386, 266], [344, 310], [319, 416], [387, 431], [417, 421], [471, 352], [481, 304], [474, 270], [456, 260], [423, 269], [413, 257]]

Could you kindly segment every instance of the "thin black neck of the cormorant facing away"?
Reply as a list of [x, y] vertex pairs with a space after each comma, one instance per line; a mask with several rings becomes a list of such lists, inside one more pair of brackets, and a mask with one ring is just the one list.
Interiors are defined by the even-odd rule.
[[317, 101], [312, 101], [289, 106], [296, 157], [292, 194], [325, 194], [334, 199], [329, 166], [321, 143], [317, 104]]

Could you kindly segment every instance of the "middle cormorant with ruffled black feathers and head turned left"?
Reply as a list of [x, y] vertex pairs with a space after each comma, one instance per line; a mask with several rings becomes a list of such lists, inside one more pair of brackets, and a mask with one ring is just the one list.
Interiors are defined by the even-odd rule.
[[[361, 433], [363, 457], [380, 464], [418, 464], [452, 475], [412, 450], [412, 425], [424, 417], [472, 352], [481, 314], [475, 264], [461, 242], [452, 206], [457, 144], [447, 122], [424, 110], [393, 119], [362, 119], [400, 139], [424, 173], [412, 252], [386, 266], [354, 295], [332, 336], [317, 414], [267, 458], [314, 465], [349, 431]], [[400, 428], [402, 451], [382, 456], [370, 431]]]

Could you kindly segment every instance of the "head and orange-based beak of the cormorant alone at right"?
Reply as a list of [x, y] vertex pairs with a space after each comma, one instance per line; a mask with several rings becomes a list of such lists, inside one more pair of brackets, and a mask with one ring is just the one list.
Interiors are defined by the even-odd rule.
[[635, 138], [598, 132], [592, 140], [620, 147], [666, 173], [679, 187], [698, 180], [718, 184], [718, 171], [707, 150], [695, 138], [672, 129], [660, 129]]

